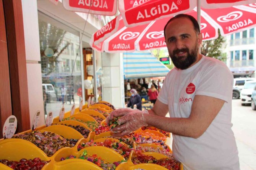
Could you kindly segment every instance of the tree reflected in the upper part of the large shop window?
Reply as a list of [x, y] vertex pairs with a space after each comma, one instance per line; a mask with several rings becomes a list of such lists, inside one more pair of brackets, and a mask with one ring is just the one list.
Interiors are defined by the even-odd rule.
[[[68, 47], [69, 42], [63, 41], [66, 31], [53, 26], [47, 22], [39, 20], [39, 38], [40, 38], [40, 53], [42, 73], [49, 75], [55, 71], [58, 57]], [[45, 49], [52, 48], [53, 56], [45, 56]]]

